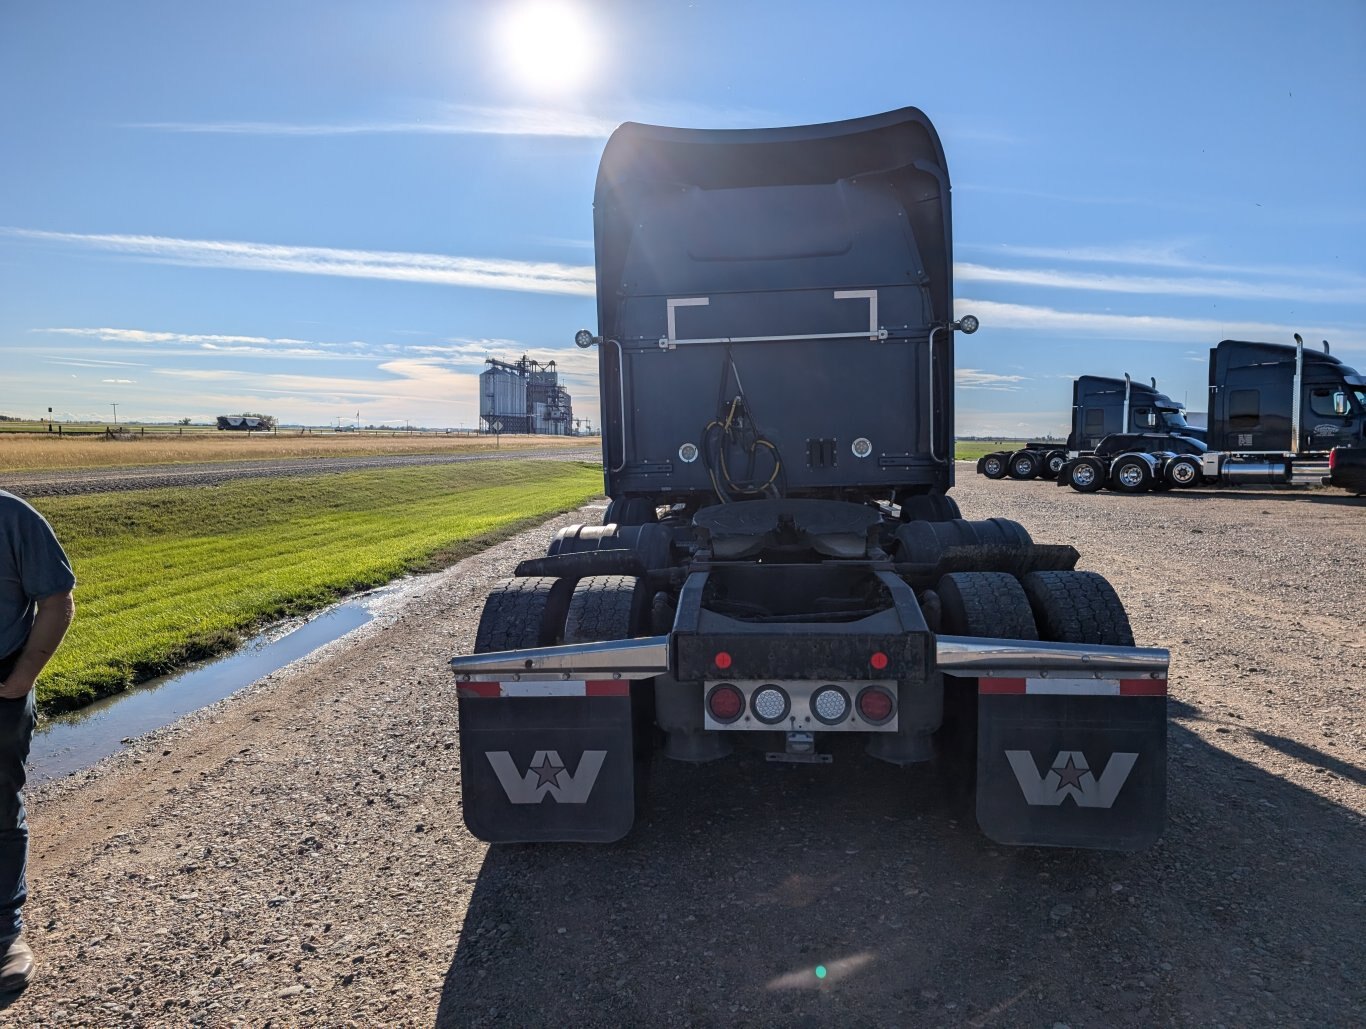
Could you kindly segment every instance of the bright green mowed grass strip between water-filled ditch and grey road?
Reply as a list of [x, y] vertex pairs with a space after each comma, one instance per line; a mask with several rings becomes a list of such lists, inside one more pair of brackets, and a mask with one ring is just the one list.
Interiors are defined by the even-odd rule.
[[601, 488], [600, 466], [520, 461], [40, 499], [79, 585], [38, 702], [56, 712], [117, 693], [270, 620], [449, 564]]

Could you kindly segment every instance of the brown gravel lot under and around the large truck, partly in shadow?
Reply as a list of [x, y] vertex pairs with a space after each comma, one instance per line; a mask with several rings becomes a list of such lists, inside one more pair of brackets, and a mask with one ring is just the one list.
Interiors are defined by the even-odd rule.
[[[1366, 504], [960, 466], [1172, 659], [1147, 853], [986, 842], [923, 769], [660, 764], [612, 847], [460, 820], [444, 660], [546, 529], [31, 802], [22, 1025], [1366, 1021]], [[824, 965], [825, 978], [816, 966]]]

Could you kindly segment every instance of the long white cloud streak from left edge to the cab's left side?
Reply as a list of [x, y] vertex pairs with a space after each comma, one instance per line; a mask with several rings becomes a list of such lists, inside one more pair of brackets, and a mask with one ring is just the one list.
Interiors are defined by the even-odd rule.
[[23, 239], [71, 243], [96, 250], [133, 254], [163, 264], [195, 268], [335, 275], [348, 279], [384, 279], [571, 297], [591, 297], [594, 294], [594, 275], [590, 265], [449, 257], [392, 250], [280, 246], [227, 239], [46, 232], [29, 228], [5, 228], [3, 231]]

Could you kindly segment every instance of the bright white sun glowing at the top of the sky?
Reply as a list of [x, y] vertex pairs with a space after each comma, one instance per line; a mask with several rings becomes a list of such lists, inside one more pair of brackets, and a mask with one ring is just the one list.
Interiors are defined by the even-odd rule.
[[497, 26], [499, 51], [516, 79], [538, 92], [582, 86], [597, 61], [587, 14], [572, 0], [522, 0]]

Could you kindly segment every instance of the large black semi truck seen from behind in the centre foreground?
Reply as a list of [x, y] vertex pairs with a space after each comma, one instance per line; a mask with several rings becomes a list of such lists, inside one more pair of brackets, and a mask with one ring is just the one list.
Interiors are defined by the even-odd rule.
[[657, 756], [850, 745], [947, 763], [1003, 843], [1158, 836], [1167, 650], [1074, 548], [948, 496], [953, 339], [977, 328], [949, 215], [914, 108], [616, 130], [575, 339], [611, 504], [497, 585], [451, 661], [475, 836], [611, 842]]

